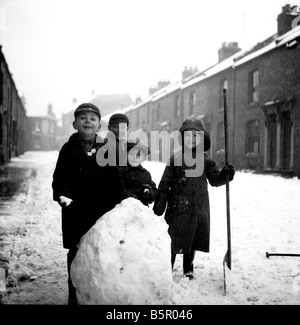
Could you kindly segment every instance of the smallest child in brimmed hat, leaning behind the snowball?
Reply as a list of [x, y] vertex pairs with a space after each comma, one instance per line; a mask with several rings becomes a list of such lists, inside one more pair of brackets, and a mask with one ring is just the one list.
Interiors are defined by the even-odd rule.
[[150, 154], [150, 149], [141, 141], [129, 140], [127, 152], [128, 163], [122, 168], [127, 193], [149, 206], [158, 192], [151, 174], [141, 165]]

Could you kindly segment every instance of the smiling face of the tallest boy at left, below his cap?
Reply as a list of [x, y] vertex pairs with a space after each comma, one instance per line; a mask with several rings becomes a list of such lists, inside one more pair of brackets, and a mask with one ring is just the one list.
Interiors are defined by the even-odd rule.
[[91, 139], [100, 130], [99, 116], [92, 112], [85, 112], [76, 116], [73, 127], [85, 139]]

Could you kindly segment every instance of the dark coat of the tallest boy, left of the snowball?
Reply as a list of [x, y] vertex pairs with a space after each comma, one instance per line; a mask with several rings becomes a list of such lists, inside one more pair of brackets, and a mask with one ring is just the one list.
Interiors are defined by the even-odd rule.
[[[125, 198], [125, 187], [117, 167], [100, 167], [97, 150], [103, 145], [94, 139], [87, 142], [73, 134], [60, 150], [53, 173], [53, 199], [73, 200], [62, 208], [63, 246], [74, 247], [80, 238], [106, 212]], [[96, 151], [94, 153], [91, 152]], [[87, 154], [90, 152], [90, 155]]]

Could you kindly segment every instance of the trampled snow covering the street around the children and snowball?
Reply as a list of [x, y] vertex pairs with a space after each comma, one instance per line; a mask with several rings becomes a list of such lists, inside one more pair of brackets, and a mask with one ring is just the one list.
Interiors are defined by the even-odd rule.
[[[9, 215], [0, 216], [1, 254], [9, 258], [3, 304], [67, 304], [66, 253], [61, 240], [60, 208], [52, 201], [52, 173], [58, 152], [27, 152], [11, 164], [36, 169], [28, 191], [15, 196]], [[145, 162], [158, 185], [164, 164]], [[197, 252], [196, 279], [182, 276], [182, 256], [173, 271], [175, 305], [299, 305], [300, 180], [237, 172], [230, 183], [232, 269], [227, 250], [225, 186], [209, 187], [211, 252]]]

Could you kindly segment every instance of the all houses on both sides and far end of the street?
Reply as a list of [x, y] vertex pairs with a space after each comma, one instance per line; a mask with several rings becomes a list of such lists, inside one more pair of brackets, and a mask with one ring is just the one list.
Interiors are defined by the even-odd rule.
[[[209, 154], [224, 163], [223, 89], [227, 89], [229, 159], [237, 169], [300, 177], [299, 12], [286, 5], [277, 31], [249, 49], [223, 43], [218, 62], [203, 71], [185, 68], [181, 80], [159, 81], [135, 103], [127, 94], [91, 98], [103, 112], [130, 119], [130, 131], [178, 130], [186, 118], [201, 119], [210, 134]], [[45, 116], [27, 117], [0, 48], [0, 164], [26, 150], [59, 149], [73, 133], [74, 100], [57, 125], [51, 104]], [[107, 107], [107, 109], [106, 109]]]

